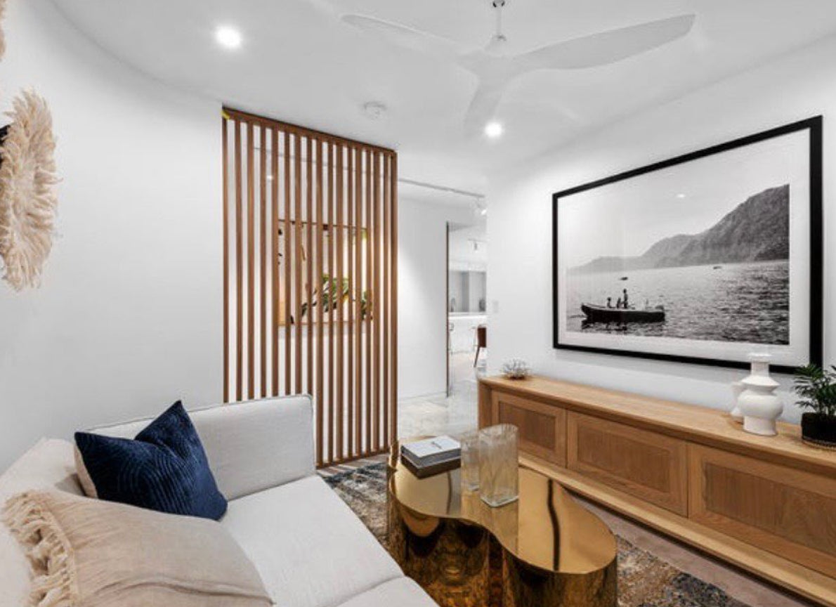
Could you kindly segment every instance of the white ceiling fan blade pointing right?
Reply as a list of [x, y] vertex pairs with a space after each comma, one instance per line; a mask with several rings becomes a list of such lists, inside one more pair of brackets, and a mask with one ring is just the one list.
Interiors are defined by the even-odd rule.
[[691, 31], [696, 15], [681, 15], [613, 29], [584, 38], [550, 44], [514, 58], [520, 71], [533, 69], [582, 69], [614, 64], [663, 44], [682, 38]]

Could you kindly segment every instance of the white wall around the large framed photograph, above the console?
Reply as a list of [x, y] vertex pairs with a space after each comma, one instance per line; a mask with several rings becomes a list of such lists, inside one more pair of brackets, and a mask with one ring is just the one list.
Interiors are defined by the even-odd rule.
[[[552, 193], [707, 145], [825, 116], [825, 304], [833, 309], [836, 269], [836, 38], [635, 115], [492, 180], [488, 239], [491, 371], [513, 355], [543, 375], [725, 409], [739, 370], [680, 365], [552, 348]], [[726, 178], [722, 177], [721, 178]], [[833, 314], [825, 316], [825, 359], [836, 356]], [[785, 417], [799, 411], [783, 380]]]

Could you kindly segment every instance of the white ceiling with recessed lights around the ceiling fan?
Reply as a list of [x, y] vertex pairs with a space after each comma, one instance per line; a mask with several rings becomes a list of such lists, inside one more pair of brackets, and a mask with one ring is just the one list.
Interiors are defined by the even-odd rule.
[[[619, 64], [517, 79], [502, 100], [501, 140], [468, 139], [476, 79], [340, 23], [362, 13], [482, 46], [490, 0], [52, 0], [126, 63], [227, 105], [393, 147], [400, 174], [483, 191], [487, 176], [621, 116], [762, 64], [836, 32], [833, 0], [508, 0], [508, 51], [522, 53], [682, 13], [691, 33]], [[235, 52], [219, 24], [244, 35]], [[375, 100], [389, 111], [372, 121]]]

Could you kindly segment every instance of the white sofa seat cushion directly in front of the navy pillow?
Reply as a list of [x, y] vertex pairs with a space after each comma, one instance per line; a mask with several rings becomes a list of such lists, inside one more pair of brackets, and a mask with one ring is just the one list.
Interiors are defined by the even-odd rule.
[[229, 502], [222, 525], [286, 607], [334, 607], [403, 575], [317, 476]]

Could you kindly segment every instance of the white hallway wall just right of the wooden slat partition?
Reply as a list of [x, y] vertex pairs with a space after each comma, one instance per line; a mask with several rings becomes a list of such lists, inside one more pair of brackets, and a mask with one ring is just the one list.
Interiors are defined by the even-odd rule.
[[398, 397], [446, 391], [446, 224], [474, 221], [469, 207], [400, 198]]

